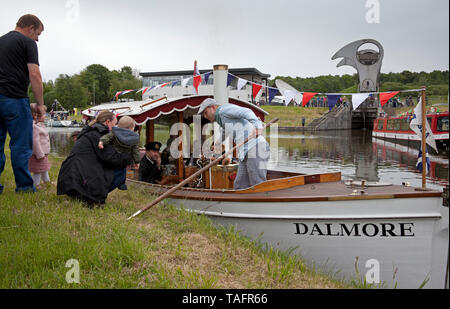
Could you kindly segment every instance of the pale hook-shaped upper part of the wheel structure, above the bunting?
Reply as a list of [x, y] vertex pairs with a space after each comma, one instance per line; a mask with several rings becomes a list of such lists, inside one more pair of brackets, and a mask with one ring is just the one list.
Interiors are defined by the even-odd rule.
[[[378, 51], [373, 49], [358, 50], [362, 45], [369, 43], [376, 45]], [[359, 92], [377, 92], [383, 57], [384, 49], [378, 41], [364, 39], [345, 45], [331, 59], [343, 58], [337, 64], [337, 67], [348, 65], [356, 69], [359, 75]]]

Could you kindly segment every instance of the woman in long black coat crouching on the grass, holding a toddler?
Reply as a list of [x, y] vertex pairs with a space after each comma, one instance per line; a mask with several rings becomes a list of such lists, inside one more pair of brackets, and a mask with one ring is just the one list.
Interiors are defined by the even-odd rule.
[[115, 179], [114, 169], [126, 168], [132, 161], [131, 155], [119, 153], [111, 145], [98, 148], [100, 137], [116, 123], [113, 113], [103, 111], [80, 132], [59, 170], [58, 195], [80, 198], [88, 204], [103, 204], [108, 193], [123, 182]]

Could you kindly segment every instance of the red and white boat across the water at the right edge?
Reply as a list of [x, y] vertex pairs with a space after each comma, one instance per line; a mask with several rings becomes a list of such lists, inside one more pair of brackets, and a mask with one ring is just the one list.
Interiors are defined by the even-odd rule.
[[[449, 149], [449, 112], [428, 113], [427, 120], [433, 132], [438, 150], [448, 151]], [[396, 117], [378, 117], [374, 120], [372, 136], [390, 142], [399, 143], [406, 146], [419, 148], [421, 138], [411, 130], [409, 123], [412, 115]], [[428, 151], [435, 153], [431, 147]]]

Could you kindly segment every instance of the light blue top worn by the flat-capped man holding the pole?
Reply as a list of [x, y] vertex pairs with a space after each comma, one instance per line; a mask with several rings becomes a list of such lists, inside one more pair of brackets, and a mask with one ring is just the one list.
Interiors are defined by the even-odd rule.
[[[252, 112], [252, 110], [240, 107], [234, 104], [221, 105], [216, 110], [216, 122], [224, 129], [225, 136], [233, 134], [233, 141], [236, 144], [243, 142], [252, 134], [255, 128], [262, 128], [261, 120]], [[266, 139], [260, 135], [253, 138], [248, 143], [238, 149], [239, 161], [244, 160], [248, 151], [255, 147], [258, 143], [267, 143]], [[259, 147], [262, 147], [260, 145]], [[263, 149], [263, 148], [262, 148]]]

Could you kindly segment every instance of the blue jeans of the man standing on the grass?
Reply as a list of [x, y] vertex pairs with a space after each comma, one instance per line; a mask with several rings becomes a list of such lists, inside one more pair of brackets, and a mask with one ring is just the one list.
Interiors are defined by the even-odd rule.
[[[13, 99], [0, 95], [0, 175], [5, 168], [5, 142], [6, 134], [11, 139], [11, 164], [16, 180], [16, 192], [34, 192], [28, 169], [28, 161], [33, 153], [33, 118], [31, 117], [30, 101], [26, 99]], [[3, 186], [0, 185], [0, 193]]]

